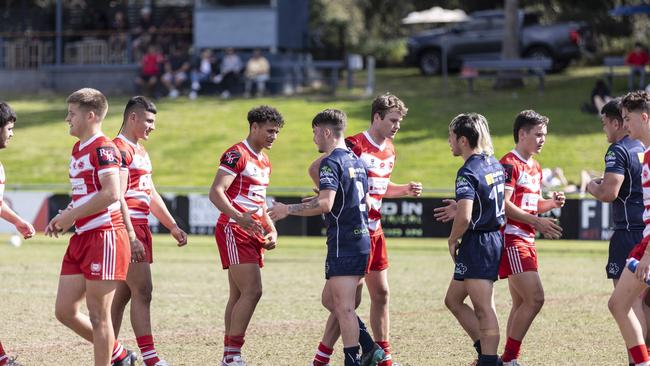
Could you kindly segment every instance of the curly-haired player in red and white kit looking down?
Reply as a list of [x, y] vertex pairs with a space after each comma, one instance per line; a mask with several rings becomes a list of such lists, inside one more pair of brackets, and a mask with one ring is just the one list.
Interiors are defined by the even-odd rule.
[[246, 365], [241, 347], [262, 296], [264, 250], [275, 248], [278, 239], [266, 206], [271, 163], [262, 150], [273, 146], [284, 119], [275, 108], [260, 106], [248, 112], [248, 124], [248, 137], [221, 156], [209, 194], [220, 211], [215, 238], [230, 288], [222, 366]]

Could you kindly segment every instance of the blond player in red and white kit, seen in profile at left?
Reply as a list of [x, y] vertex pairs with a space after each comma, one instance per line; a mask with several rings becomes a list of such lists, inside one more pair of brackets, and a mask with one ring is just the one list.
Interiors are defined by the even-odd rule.
[[[66, 100], [72, 148], [72, 202], [47, 225], [45, 235], [58, 237], [73, 225], [75, 234], [63, 258], [56, 296], [56, 318], [93, 343], [94, 365], [131, 365], [132, 354], [115, 340], [111, 303], [119, 281], [126, 280], [131, 259], [120, 208], [120, 153], [102, 133], [108, 101], [98, 90], [84, 88]], [[80, 312], [86, 300], [88, 315]]]

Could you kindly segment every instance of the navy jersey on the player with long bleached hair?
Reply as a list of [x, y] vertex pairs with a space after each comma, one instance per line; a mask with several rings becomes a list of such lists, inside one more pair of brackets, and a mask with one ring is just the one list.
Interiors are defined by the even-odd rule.
[[496, 231], [503, 225], [504, 183], [503, 167], [494, 156], [474, 154], [458, 170], [456, 201], [474, 201], [468, 230]]

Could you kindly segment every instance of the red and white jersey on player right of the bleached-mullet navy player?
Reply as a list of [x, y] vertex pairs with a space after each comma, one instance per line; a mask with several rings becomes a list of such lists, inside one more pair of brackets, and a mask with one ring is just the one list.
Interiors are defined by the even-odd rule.
[[[542, 195], [542, 168], [539, 163], [529, 158], [524, 160], [516, 150], [512, 150], [501, 158], [501, 165], [506, 172], [506, 190], [513, 191], [510, 201], [515, 206], [537, 215], [537, 202]], [[530, 243], [535, 241], [535, 228], [532, 225], [506, 219], [505, 233], [516, 235]]]

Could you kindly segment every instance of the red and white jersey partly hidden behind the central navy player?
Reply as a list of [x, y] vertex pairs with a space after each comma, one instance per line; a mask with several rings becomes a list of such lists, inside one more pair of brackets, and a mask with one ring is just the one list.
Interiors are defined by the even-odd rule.
[[393, 141], [386, 141], [379, 145], [373, 141], [367, 131], [358, 133], [345, 139], [346, 145], [352, 149], [366, 164], [368, 169], [368, 193], [370, 210], [368, 211], [368, 228], [373, 234], [382, 232], [381, 228], [381, 202], [390, 183], [390, 174], [395, 165], [395, 147]]

